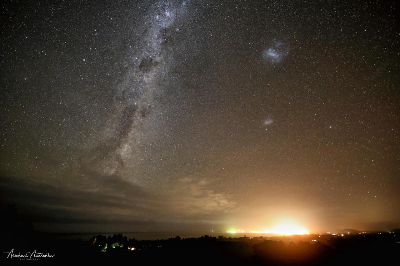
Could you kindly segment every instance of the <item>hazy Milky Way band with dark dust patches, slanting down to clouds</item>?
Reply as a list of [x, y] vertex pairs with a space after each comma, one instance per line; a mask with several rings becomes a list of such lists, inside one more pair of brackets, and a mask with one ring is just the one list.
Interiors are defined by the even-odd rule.
[[[104, 174], [133, 173], [132, 161], [139, 160], [141, 128], [151, 115], [156, 93], [164, 89], [174, 60], [176, 40], [184, 20], [186, 2], [160, 2], [150, 8], [138, 25], [135, 48], [131, 51], [122, 80], [116, 85], [114, 110], [104, 126], [102, 144], [96, 145], [91, 163]], [[144, 31], [143, 31], [144, 29]]]

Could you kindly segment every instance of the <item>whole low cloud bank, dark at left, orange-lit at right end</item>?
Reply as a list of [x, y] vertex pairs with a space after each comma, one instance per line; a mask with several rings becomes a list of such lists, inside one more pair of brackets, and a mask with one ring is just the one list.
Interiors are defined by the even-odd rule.
[[206, 185], [180, 179], [171, 191], [154, 193], [117, 175], [89, 171], [82, 171], [79, 183], [0, 177], [2, 205], [16, 204], [30, 220], [50, 224], [218, 223], [216, 217], [234, 202]]

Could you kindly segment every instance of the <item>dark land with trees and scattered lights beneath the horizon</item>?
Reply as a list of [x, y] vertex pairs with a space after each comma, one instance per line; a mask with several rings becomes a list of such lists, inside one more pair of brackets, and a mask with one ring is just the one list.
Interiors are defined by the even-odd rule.
[[[28, 257], [7, 258], [12, 249], [14, 256], [28, 252]], [[29, 253], [34, 250], [35, 259]], [[3, 241], [2, 251], [2, 262], [6, 262], [2, 265], [399, 265], [400, 232], [252, 238], [204, 235], [166, 240], [128, 240], [114, 234], [93, 236], [88, 241], [57, 240], [47, 234], [30, 233]]]

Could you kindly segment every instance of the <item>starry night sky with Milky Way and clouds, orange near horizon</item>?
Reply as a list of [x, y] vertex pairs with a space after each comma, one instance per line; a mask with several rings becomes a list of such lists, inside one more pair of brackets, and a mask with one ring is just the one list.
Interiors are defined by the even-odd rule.
[[399, 8], [8, 0], [2, 208], [41, 231], [399, 226]]

